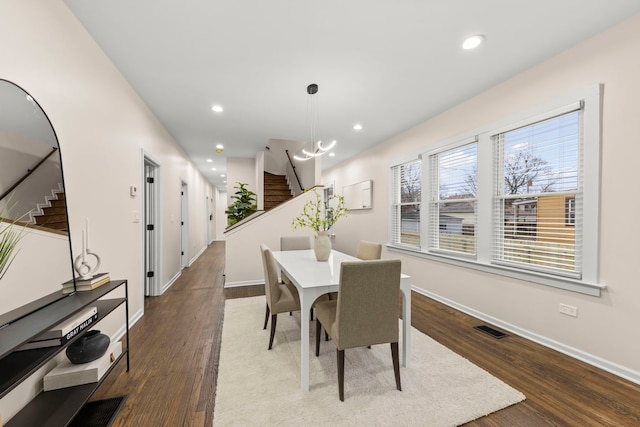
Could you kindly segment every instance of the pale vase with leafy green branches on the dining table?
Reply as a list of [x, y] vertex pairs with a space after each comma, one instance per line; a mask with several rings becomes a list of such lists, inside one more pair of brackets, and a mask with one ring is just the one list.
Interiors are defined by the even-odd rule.
[[332, 195], [323, 200], [322, 196], [313, 189], [315, 200], [307, 200], [302, 208], [302, 214], [293, 218], [291, 228], [311, 228], [315, 231], [314, 251], [318, 261], [326, 261], [331, 254], [331, 240], [327, 232], [340, 218], [347, 216], [344, 197]]

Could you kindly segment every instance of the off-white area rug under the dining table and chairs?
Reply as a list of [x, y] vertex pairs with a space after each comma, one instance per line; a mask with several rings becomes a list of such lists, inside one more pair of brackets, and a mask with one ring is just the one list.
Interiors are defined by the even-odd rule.
[[[300, 389], [300, 316], [278, 315], [273, 349], [262, 329], [265, 299], [227, 300], [215, 426], [456, 426], [525, 396], [412, 328], [409, 367], [396, 390], [388, 344], [346, 350], [345, 401], [338, 398], [336, 351], [310, 322], [310, 391]], [[402, 348], [402, 347], [401, 347]]]

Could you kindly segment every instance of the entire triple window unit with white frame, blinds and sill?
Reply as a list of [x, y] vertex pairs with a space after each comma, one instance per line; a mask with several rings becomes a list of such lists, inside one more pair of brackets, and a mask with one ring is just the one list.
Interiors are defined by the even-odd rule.
[[600, 295], [601, 105], [594, 85], [392, 166], [389, 247]]

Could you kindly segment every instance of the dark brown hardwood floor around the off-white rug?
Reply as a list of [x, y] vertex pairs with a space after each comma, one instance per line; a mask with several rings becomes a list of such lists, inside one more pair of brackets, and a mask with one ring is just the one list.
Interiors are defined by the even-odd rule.
[[[114, 426], [212, 425], [224, 301], [264, 294], [224, 289], [223, 271], [216, 242], [164, 295], [146, 299], [131, 329], [130, 372], [120, 363], [94, 394], [128, 395]], [[467, 426], [640, 426], [640, 386], [518, 336], [492, 338], [473, 328], [477, 319], [412, 298], [413, 326], [527, 397]]]

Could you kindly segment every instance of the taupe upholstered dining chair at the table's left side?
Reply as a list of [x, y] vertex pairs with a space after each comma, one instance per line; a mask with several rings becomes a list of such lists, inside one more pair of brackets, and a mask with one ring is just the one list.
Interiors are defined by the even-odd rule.
[[267, 329], [267, 322], [271, 313], [271, 335], [269, 337], [269, 350], [271, 350], [273, 337], [276, 334], [278, 314], [300, 311], [300, 298], [297, 293], [294, 296], [287, 286], [280, 284], [278, 267], [271, 249], [262, 244], [260, 245], [260, 252], [262, 253], [262, 266], [264, 269], [264, 290], [267, 297], [267, 312], [264, 317], [263, 329]]

